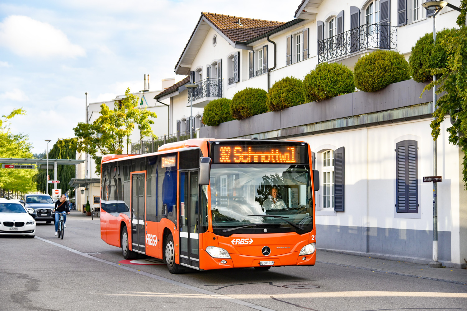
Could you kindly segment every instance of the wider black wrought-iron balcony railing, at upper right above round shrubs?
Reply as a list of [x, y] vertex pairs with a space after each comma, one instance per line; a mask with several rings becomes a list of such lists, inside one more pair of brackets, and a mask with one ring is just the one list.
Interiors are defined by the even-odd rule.
[[318, 62], [328, 62], [366, 48], [397, 49], [397, 27], [365, 24], [318, 41]]

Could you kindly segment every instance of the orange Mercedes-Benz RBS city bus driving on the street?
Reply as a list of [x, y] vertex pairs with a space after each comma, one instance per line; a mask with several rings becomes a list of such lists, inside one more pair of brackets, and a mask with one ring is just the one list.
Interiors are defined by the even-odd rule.
[[189, 139], [105, 155], [101, 238], [171, 273], [312, 266], [318, 176], [300, 141]]

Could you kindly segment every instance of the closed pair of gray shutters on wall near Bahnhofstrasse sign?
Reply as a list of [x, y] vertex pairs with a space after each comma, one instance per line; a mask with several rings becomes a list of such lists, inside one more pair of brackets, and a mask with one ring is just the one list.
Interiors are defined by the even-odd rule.
[[396, 212], [418, 213], [417, 141], [396, 144]]

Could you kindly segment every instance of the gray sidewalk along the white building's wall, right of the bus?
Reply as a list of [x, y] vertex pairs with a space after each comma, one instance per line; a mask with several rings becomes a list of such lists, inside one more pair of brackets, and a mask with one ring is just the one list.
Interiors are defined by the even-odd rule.
[[467, 269], [429, 268], [428, 265], [405, 263], [371, 257], [361, 257], [317, 250], [316, 263], [371, 270], [403, 276], [426, 278], [467, 285]]

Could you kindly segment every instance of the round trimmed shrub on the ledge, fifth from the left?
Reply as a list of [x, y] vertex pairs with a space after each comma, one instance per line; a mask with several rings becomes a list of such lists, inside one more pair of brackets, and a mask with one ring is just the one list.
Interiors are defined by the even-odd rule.
[[359, 58], [354, 78], [357, 89], [376, 92], [391, 83], [409, 80], [409, 63], [396, 51], [375, 51]]

